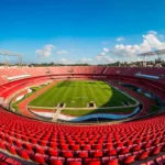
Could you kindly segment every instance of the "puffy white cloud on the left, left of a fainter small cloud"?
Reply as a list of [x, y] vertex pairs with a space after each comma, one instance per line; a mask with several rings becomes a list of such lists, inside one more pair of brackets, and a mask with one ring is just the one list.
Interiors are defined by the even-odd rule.
[[38, 56], [48, 57], [48, 56], [51, 56], [53, 48], [56, 48], [56, 47], [54, 45], [47, 44], [43, 48], [36, 50], [35, 53]]

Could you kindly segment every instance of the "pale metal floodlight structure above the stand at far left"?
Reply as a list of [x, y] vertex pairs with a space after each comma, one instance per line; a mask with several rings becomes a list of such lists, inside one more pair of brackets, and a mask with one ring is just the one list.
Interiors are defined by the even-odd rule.
[[[22, 54], [20, 54], [20, 53], [13, 53], [10, 51], [0, 50], [0, 55], [2, 55], [2, 56], [18, 56], [18, 64], [19, 64], [19, 66], [22, 65]], [[6, 62], [6, 64], [9, 64], [9, 62]]]

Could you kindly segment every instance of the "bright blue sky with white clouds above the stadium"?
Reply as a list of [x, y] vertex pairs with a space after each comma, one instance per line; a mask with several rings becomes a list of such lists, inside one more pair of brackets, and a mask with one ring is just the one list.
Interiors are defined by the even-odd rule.
[[165, 46], [164, 9], [164, 0], [0, 0], [0, 48], [24, 63], [140, 61]]

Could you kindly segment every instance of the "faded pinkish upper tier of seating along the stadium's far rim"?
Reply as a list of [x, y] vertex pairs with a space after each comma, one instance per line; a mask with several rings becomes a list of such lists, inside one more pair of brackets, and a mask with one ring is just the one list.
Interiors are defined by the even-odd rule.
[[61, 66], [61, 67], [22, 67], [22, 68], [0, 68], [0, 85], [9, 82], [8, 77], [31, 75], [31, 77], [46, 75], [112, 75], [130, 76], [141, 73], [151, 76], [164, 76], [157, 81], [165, 84], [165, 68], [142, 68], [142, 67], [102, 67], [102, 66]]

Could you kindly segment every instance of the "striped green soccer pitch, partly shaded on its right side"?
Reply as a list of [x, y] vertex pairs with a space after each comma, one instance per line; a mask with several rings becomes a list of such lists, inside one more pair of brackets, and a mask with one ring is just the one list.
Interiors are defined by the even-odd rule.
[[97, 107], [123, 106], [128, 101], [135, 101], [103, 81], [96, 80], [66, 80], [59, 81], [44, 94], [32, 100], [29, 106], [56, 107], [66, 103], [67, 108], [86, 108], [94, 101]]

